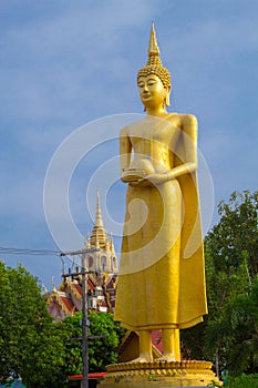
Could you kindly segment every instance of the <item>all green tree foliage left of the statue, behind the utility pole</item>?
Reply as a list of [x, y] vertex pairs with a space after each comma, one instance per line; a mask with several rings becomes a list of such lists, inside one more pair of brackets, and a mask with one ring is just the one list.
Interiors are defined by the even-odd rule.
[[[90, 313], [90, 371], [117, 360], [124, 330], [112, 314]], [[28, 388], [64, 387], [69, 375], [82, 372], [81, 313], [54, 323], [38, 279], [25, 268], [0, 262], [0, 377], [22, 377]]]

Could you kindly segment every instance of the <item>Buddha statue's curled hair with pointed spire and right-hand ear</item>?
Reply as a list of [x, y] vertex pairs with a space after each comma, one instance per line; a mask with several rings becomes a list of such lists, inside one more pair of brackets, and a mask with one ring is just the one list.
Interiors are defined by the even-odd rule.
[[146, 78], [151, 74], [158, 76], [159, 80], [162, 81], [163, 86], [167, 91], [164, 103], [166, 106], [169, 106], [171, 73], [162, 64], [154, 24], [152, 24], [151, 37], [149, 37], [148, 61], [144, 68], [140, 69], [137, 73], [137, 83], [141, 78]]

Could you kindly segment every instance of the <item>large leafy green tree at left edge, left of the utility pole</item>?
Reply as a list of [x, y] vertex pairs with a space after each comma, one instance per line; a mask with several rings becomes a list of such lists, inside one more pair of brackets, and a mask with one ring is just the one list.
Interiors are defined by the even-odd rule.
[[22, 377], [29, 387], [59, 387], [66, 333], [52, 321], [41, 289], [21, 265], [0, 262], [0, 376]]

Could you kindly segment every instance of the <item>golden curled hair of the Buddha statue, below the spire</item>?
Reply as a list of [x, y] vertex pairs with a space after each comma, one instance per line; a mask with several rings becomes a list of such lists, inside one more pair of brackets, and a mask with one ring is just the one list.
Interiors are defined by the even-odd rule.
[[151, 74], [157, 75], [164, 88], [171, 86], [171, 73], [162, 65], [162, 61], [158, 57], [149, 57], [146, 67], [140, 69], [137, 73], [137, 82], [140, 76], [147, 76]]

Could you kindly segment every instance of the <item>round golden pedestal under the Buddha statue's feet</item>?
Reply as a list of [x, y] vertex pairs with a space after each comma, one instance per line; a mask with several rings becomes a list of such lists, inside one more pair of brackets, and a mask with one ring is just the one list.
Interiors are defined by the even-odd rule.
[[211, 371], [209, 361], [121, 363], [109, 365], [99, 388], [168, 388], [213, 387], [221, 381]]

